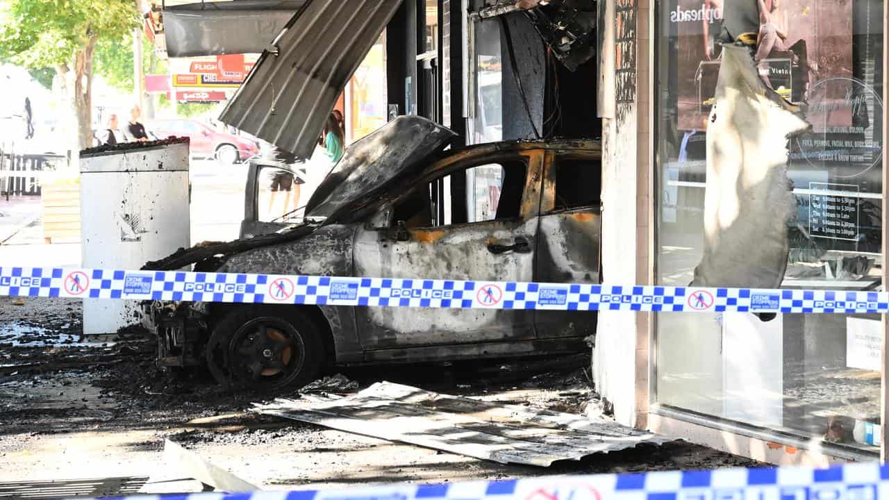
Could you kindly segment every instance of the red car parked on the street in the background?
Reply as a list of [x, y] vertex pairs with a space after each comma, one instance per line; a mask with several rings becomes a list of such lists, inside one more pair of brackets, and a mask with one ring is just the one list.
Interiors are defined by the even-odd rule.
[[191, 156], [214, 157], [226, 165], [243, 161], [260, 150], [256, 142], [232, 133], [218, 132], [196, 120], [155, 120], [148, 123], [145, 128], [157, 139], [166, 139], [171, 135], [188, 137]]

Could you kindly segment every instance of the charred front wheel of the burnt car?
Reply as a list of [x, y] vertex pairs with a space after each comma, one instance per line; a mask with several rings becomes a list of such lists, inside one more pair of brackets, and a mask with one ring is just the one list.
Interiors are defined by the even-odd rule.
[[213, 328], [205, 353], [221, 385], [263, 394], [299, 389], [324, 366], [324, 344], [307, 315], [286, 306], [243, 306]]

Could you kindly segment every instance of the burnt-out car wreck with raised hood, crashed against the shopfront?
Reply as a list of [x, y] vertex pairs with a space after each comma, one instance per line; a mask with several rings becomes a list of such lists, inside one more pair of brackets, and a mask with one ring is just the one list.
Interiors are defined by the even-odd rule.
[[[262, 222], [250, 167], [242, 236], [146, 269], [348, 277], [599, 282], [597, 141], [446, 149], [455, 134], [399, 117], [351, 145], [306, 222]], [[588, 349], [591, 311], [154, 302], [158, 364], [206, 365], [223, 384], [279, 391], [334, 364], [532, 356]]]

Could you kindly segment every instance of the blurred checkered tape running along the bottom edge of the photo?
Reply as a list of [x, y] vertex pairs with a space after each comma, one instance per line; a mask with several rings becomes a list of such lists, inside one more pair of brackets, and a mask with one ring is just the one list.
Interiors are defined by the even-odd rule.
[[[145, 498], [144, 496], [140, 498]], [[320, 491], [162, 496], [194, 500], [884, 500], [889, 468], [720, 469], [559, 476], [435, 485], [394, 484]]]

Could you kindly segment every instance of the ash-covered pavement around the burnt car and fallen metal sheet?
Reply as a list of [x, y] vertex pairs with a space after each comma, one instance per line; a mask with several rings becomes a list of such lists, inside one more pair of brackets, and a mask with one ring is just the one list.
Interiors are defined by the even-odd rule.
[[[156, 343], [139, 328], [84, 338], [81, 313], [76, 300], [0, 298], [0, 480], [164, 471], [166, 439], [269, 488], [757, 465], [684, 442], [549, 468], [502, 465], [256, 415], [247, 411], [255, 398], [221, 391], [204, 370], [157, 369]], [[589, 355], [576, 355], [334, 368], [316, 385], [359, 391], [388, 380], [582, 414], [607, 409], [589, 366]]]

